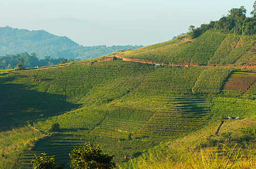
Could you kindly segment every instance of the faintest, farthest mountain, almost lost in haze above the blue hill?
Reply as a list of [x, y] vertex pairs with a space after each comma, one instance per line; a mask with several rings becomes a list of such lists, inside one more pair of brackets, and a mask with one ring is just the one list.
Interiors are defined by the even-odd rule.
[[115, 44], [117, 38], [122, 38], [117, 35], [117, 31], [106, 26], [74, 18], [34, 21], [23, 24], [22, 28], [29, 30], [43, 29], [56, 35], [65, 35], [83, 46], [92, 46], [92, 44], [109, 46], [109, 44]]

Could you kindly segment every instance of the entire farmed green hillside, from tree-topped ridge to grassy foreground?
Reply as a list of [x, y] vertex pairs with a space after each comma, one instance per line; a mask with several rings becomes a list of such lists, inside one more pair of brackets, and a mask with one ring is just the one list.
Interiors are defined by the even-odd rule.
[[255, 168], [255, 38], [220, 26], [236, 18], [254, 20], [241, 7], [172, 41], [0, 72], [0, 166], [69, 167], [89, 141], [117, 168]]

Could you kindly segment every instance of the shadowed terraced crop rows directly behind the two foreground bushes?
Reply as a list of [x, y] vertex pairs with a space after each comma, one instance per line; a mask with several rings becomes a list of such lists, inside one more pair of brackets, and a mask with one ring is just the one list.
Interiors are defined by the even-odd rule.
[[[27, 162], [33, 157], [33, 154], [40, 154], [45, 152], [49, 155], [56, 155], [57, 162], [67, 164], [70, 161], [69, 153], [74, 148], [81, 148], [84, 143], [90, 141], [94, 144], [101, 144], [101, 148], [104, 152], [116, 152], [114, 153], [114, 161], [123, 161], [123, 156], [127, 153], [132, 154], [135, 148], [136, 151], [142, 151], [146, 149], [150, 143], [142, 143], [140, 141], [118, 141], [112, 137], [106, 136], [93, 136], [88, 134], [55, 134], [49, 138], [46, 138], [39, 143], [32, 150], [20, 157], [20, 161]], [[102, 144], [104, 143], [104, 144]], [[56, 154], [58, 152], [58, 154]], [[110, 153], [111, 154], [111, 153]]]

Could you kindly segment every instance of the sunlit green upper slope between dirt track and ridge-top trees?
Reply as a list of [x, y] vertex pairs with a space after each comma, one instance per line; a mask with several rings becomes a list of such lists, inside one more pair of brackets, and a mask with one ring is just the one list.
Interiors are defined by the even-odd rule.
[[164, 64], [252, 66], [255, 65], [255, 42], [249, 35], [207, 30], [195, 39], [181, 35], [172, 41], [119, 52], [117, 56]]

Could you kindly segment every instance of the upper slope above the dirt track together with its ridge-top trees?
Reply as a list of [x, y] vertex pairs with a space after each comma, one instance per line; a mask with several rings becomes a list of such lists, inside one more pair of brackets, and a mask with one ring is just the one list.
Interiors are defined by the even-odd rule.
[[256, 17], [246, 17], [244, 7], [172, 41], [118, 53], [120, 57], [164, 64], [255, 65]]

